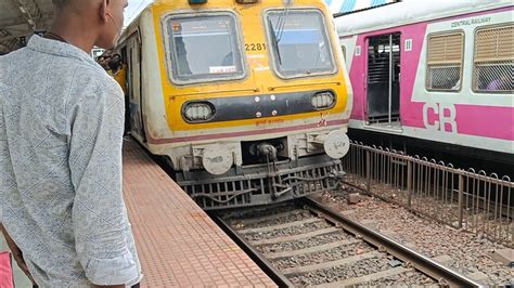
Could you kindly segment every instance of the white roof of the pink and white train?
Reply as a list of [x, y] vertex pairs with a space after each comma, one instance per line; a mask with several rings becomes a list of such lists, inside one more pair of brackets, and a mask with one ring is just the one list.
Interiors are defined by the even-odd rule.
[[[424, 2], [424, 3], [422, 3]], [[459, 14], [514, 6], [512, 0], [403, 0], [335, 18], [339, 36], [351, 36]]]

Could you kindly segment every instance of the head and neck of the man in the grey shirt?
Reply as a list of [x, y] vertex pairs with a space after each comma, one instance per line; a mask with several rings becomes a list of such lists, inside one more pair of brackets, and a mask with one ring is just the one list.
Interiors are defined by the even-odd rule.
[[[103, 49], [111, 49], [116, 44], [124, 25], [127, 0], [52, 1], [56, 11], [55, 25], [74, 27], [77, 32], [87, 30], [88, 36], [94, 38], [93, 44]], [[75, 25], [70, 26], [69, 22]]]

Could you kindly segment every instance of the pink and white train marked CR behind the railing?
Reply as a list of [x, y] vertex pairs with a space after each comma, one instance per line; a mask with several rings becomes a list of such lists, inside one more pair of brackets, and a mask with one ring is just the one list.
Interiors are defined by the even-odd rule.
[[351, 134], [514, 163], [511, 0], [404, 0], [335, 24]]

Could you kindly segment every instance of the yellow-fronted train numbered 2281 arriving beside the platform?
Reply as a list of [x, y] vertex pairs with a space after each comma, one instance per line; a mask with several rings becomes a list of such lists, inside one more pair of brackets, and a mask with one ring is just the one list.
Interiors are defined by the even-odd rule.
[[352, 90], [323, 1], [156, 0], [114, 52], [131, 135], [203, 209], [294, 199], [344, 176]]

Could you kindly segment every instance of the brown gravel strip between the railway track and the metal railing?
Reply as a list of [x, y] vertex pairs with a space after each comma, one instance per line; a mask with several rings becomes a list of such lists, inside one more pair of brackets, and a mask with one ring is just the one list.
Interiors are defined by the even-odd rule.
[[[491, 252], [505, 248], [475, 234], [417, 217], [407, 209], [383, 200], [363, 196], [356, 205], [348, 205], [345, 193], [323, 194], [323, 202], [331, 202], [347, 217], [367, 223], [373, 228], [393, 233], [396, 240], [435, 258], [449, 256], [444, 264], [464, 275], [481, 272], [490, 286], [514, 285], [514, 269], [491, 260]], [[382, 285], [382, 283], [381, 283]]]

